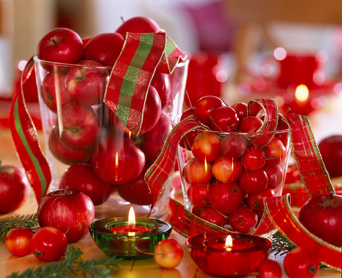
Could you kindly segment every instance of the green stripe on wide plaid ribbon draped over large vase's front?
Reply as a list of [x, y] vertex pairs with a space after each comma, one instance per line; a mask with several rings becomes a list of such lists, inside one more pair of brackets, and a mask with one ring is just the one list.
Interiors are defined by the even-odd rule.
[[[153, 42], [153, 37], [154, 33], [141, 34], [139, 45], [133, 55], [133, 58], [122, 81], [116, 115], [119, 117], [124, 125], [127, 125], [128, 114], [131, 107], [135, 84], [137, 83], [142, 67], [145, 64], [146, 58], [151, 51], [152, 44], [149, 42]], [[127, 98], [127, 96], [130, 97]]]

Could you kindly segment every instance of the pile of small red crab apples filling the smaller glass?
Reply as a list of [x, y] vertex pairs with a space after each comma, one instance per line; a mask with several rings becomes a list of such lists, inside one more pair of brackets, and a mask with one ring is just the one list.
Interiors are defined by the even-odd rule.
[[288, 146], [282, 115], [278, 132], [263, 147], [246, 134], [262, 126], [263, 115], [249, 116], [246, 103], [228, 106], [218, 97], [206, 96], [181, 120], [189, 115], [211, 129], [190, 131], [180, 141], [179, 160], [184, 160], [181, 171], [192, 212], [219, 226], [229, 224], [236, 232], [249, 233], [262, 216], [263, 198], [282, 190]]

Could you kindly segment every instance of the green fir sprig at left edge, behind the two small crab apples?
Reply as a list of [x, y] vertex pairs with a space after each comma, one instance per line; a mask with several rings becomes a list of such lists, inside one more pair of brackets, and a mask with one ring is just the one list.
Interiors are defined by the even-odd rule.
[[22, 216], [17, 215], [16, 217], [11, 216], [4, 220], [0, 220], [0, 237], [3, 235], [3, 238], [2, 238], [3, 242], [5, 242], [7, 233], [12, 228], [19, 227], [19, 224], [21, 227], [28, 227], [33, 231], [38, 230], [39, 227], [34, 227], [38, 225], [37, 213], [22, 215]]

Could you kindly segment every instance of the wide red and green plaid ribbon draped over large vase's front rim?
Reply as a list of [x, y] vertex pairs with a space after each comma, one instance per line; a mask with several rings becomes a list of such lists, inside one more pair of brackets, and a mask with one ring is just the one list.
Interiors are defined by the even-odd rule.
[[155, 71], [172, 73], [179, 60], [185, 58], [166, 33], [127, 33], [109, 77], [104, 103], [138, 135]]

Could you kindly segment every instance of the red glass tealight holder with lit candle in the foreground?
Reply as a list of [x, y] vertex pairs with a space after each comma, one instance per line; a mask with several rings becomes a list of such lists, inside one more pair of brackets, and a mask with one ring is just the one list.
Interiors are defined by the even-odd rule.
[[[231, 245], [226, 244], [232, 236]], [[271, 241], [268, 239], [228, 233], [207, 233], [186, 240], [190, 256], [206, 274], [218, 277], [245, 277], [256, 271], [267, 258]]]

